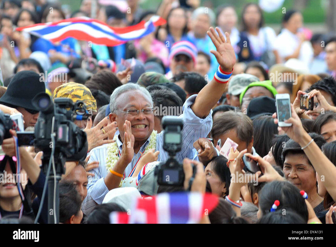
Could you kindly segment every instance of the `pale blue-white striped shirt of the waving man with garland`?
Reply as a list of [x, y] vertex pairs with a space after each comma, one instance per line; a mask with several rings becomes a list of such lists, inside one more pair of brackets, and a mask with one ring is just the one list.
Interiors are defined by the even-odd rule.
[[[196, 99], [196, 94], [190, 96], [183, 105], [183, 113], [179, 118], [183, 119], [183, 129], [182, 129], [182, 148], [181, 151], [176, 154], [176, 159], [178, 162], [182, 163], [184, 158], [193, 159], [195, 151], [193, 151], [193, 143], [199, 138], [207, 137], [208, 133], [212, 128], [212, 110], [209, 115], [202, 119], [195, 115], [193, 110], [190, 108]], [[160, 151], [158, 160], [166, 161], [169, 157], [169, 154], [163, 150], [163, 132], [157, 134], [156, 136], [156, 150]], [[116, 133], [119, 135], [119, 131]], [[141, 146], [140, 151], [143, 152], [146, 146], [149, 143], [149, 139]], [[117, 138], [117, 145], [119, 147], [120, 153], [122, 150], [122, 142]], [[89, 172], [94, 173], [93, 177], [88, 178], [88, 196], [83, 202], [83, 208], [90, 208], [89, 205], [93, 205], [92, 200], [96, 203], [101, 204], [105, 195], [109, 192], [106, 184], [104, 182], [104, 177], [107, 175], [106, 169], [106, 155], [107, 155], [107, 146], [104, 144], [102, 146], [92, 149], [89, 153], [90, 159], [88, 163], [93, 161], [99, 162], [99, 167], [90, 170]], [[132, 169], [134, 168], [136, 162], [140, 158], [140, 153], [134, 154], [134, 157], [131, 163], [125, 169], [125, 174], [128, 176]], [[91, 202], [90, 202], [91, 201]], [[84, 211], [84, 210], [83, 210]], [[86, 211], [86, 210], [85, 210]], [[85, 212], [84, 212], [85, 213]], [[87, 214], [87, 213], [86, 213]]]

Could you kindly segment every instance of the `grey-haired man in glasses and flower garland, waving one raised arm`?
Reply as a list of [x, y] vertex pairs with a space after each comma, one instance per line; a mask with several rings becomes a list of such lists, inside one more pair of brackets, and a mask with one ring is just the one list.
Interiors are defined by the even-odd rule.
[[[217, 32], [219, 29], [217, 29]], [[228, 33], [226, 40], [221, 33], [210, 28], [208, 35], [216, 46], [212, 53], [216, 56], [220, 68], [214, 79], [209, 82], [199, 94], [189, 97], [183, 105], [182, 149], [176, 154], [178, 162], [184, 158], [192, 159], [193, 143], [201, 137], [206, 137], [212, 127], [211, 108], [222, 96], [226, 82], [232, 73], [236, 56]], [[117, 188], [120, 182], [134, 174], [141, 153], [155, 149], [159, 151], [158, 160], [166, 161], [169, 157], [163, 150], [163, 132], [156, 133], [154, 129], [153, 101], [150, 93], [143, 87], [128, 83], [116, 88], [110, 97], [109, 118], [116, 121], [118, 130], [116, 142], [94, 148], [90, 153], [89, 163], [99, 162], [99, 167], [93, 169], [93, 177], [89, 177], [88, 194], [83, 210], [88, 208], [89, 200], [101, 204], [105, 195]], [[202, 145], [198, 152], [203, 152]], [[87, 205], [85, 205], [87, 204]], [[92, 202], [91, 202], [92, 205]]]

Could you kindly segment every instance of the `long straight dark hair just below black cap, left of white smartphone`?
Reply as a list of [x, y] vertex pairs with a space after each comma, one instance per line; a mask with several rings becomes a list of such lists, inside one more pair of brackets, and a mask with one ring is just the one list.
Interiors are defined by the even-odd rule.
[[278, 134], [278, 125], [274, 123], [272, 116], [261, 116], [253, 120], [253, 147], [261, 157], [268, 154], [275, 134]]

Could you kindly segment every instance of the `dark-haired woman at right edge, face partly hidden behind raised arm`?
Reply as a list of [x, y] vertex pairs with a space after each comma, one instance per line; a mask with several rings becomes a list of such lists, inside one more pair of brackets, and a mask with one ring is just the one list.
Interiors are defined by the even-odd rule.
[[336, 141], [336, 113], [326, 112], [318, 116], [311, 131], [321, 134], [327, 142]]

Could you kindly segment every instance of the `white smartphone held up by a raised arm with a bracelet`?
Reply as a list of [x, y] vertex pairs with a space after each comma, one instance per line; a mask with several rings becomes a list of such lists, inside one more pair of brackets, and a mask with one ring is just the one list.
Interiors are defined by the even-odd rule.
[[275, 106], [277, 108], [278, 125], [280, 127], [292, 126], [284, 121], [292, 117], [291, 101], [288, 93], [280, 93], [275, 96]]

